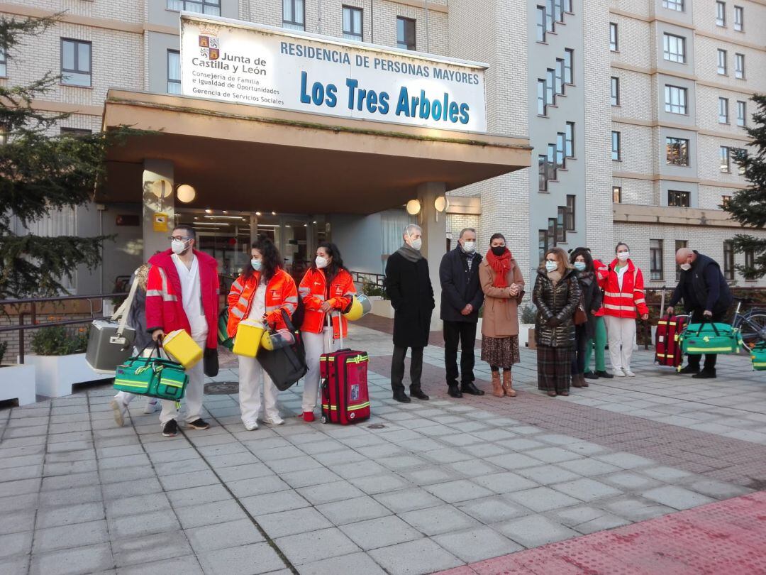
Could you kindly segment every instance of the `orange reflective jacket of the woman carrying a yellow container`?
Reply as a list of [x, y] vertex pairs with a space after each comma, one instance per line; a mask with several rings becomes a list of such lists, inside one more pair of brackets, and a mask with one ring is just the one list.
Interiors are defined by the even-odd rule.
[[[241, 275], [231, 284], [228, 296], [229, 321], [226, 326], [229, 337], [237, 334], [241, 320], [250, 314], [255, 292], [260, 283], [260, 272], [255, 271], [247, 280]], [[277, 270], [266, 286], [266, 320], [270, 327], [286, 329], [282, 310], [292, 319], [298, 307], [298, 290], [295, 281], [284, 270]]]

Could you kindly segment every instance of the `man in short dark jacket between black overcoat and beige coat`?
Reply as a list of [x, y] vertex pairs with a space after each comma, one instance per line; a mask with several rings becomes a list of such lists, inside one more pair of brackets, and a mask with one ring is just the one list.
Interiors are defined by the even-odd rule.
[[[473, 385], [476, 345], [476, 324], [484, 292], [479, 284], [481, 256], [476, 253], [476, 230], [465, 228], [460, 232], [457, 248], [441, 258], [439, 281], [441, 284], [441, 319], [444, 322], [444, 365], [447, 367], [447, 393], [463, 397], [463, 393], [483, 396]], [[460, 353], [460, 388], [457, 386], [457, 344]]]

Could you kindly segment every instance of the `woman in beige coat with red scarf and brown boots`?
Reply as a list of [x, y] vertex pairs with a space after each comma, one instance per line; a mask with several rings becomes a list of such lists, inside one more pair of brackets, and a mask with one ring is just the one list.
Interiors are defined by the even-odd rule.
[[524, 296], [524, 278], [502, 234], [489, 238], [489, 251], [479, 266], [479, 281], [486, 296], [481, 359], [492, 368], [493, 395], [516, 397], [511, 367], [519, 363], [518, 306]]

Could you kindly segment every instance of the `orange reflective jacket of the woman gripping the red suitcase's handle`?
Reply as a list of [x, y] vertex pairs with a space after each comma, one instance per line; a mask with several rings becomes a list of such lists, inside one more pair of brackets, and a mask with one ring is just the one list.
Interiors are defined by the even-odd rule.
[[[306, 275], [300, 281], [298, 293], [303, 298], [303, 305], [306, 307], [300, 330], [309, 332], [309, 334], [321, 334], [322, 327], [326, 322], [325, 314], [320, 309], [322, 303], [327, 300], [332, 305], [333, 310], [343, 311], [349, 307], [351, 298], [356, 293], [356, 288], [351, 274], [348, 271], [340, 270], [336, 277], [330, 281], [328, 290], [325, 271], [309, 268], [309, 271], [306, 271]], [[341, 316], [340, 321], [338, 319], [338, 314], [333, 314], [332, 337], [336, 340], [340, 338], [341, 331], [343, 337], [348, 334], [348, 322], [345, 317]]]

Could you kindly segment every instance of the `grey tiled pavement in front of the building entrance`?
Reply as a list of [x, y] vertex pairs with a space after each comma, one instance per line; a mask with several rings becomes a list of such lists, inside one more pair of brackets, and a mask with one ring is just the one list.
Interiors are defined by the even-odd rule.
[[[0, 573], [431, 573], [766, 481], [766, 446], [732, 434], [766, 426], [764, 376], [740, 358], [722, 358], [737, 379], [698, 383], [639, 353], [635, 380], [550, 399], [524, 351], [519, 397], [456, 400], [431, 347], [432, 399], [402, 405], [390, 337], [357, 327], [350, 343], [374, 356], [374, 416], [353, 427], [290, 418], [246, 432], [236, 396], [210, 395], [212, 429], [166, 439], [139, 402], [116, 428], [107, 387], [0, 411]], [[217, 380], [236, 381], [231, 363]], [[300, 411], [300, 392], [280, 395], [284, 415]], [[719, 427], [655, 419], [666, 416]]]

